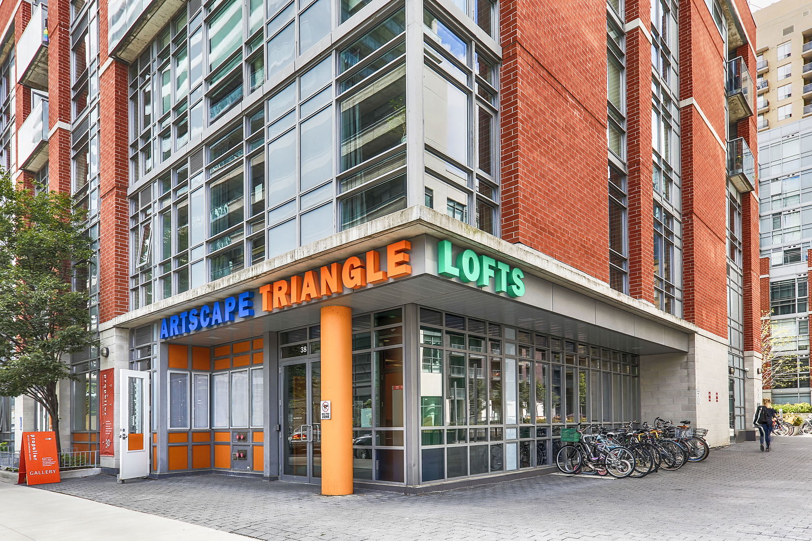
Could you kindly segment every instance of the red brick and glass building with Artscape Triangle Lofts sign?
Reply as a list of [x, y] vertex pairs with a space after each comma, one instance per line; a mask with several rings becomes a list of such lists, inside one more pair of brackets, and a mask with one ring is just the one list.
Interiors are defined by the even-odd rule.
[[417, 492], [546, 473], [578, 422], [745, 439], [743, 0], [22, 0], [0, 28], [4, 163], [97, 243], [66, 437], [122, 481]]

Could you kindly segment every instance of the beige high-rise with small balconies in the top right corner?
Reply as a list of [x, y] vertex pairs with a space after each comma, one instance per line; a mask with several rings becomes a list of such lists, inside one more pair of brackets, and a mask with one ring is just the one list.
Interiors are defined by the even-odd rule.
[[758, 129], [812, 115], [812, 2], [780, 0], [753, 18]]

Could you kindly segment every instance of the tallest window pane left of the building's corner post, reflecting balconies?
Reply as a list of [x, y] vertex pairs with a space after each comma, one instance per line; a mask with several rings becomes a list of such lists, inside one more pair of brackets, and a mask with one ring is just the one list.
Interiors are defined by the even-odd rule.
[[406, 140], [406, 68], [401, 65], [341, 102], [341, 170]]

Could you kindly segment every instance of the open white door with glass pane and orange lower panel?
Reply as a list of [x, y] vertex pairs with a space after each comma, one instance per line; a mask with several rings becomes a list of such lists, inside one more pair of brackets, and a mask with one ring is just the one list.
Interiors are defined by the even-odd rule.
[[149, 372], [119, 371], [119, 483], [149, 475]]

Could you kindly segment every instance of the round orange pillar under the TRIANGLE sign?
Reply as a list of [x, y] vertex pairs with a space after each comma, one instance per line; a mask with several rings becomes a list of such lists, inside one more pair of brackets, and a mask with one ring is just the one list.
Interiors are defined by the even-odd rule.
[[352, 494], [352, 309], [322, 308], [322, 494]]

